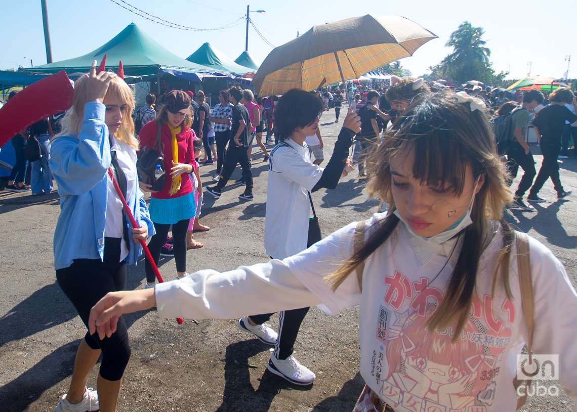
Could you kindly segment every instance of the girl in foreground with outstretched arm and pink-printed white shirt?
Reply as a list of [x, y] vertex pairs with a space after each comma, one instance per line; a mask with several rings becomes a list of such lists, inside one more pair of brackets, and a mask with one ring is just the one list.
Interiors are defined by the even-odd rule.
[[[359, 305], [366, 387], [355, 411], [515, 410], [514, 365], [525, 342], [535, 354], [559, 355], [559, 383], [577, 399], [577, 293], [548, 248], [503, 220], [512, 195], [482, 101], [420, 96], [368, 167], [369, 192], [388, 213], [282, 260], [109, 293], [92, 308], [90, 330], [104, 338], [122, 313], [154, 306], [162, 317], [227, 319]], [[529, 250], [525, 269], [519, 245]], [[520, 292], [527, 276], [532, 316]]]

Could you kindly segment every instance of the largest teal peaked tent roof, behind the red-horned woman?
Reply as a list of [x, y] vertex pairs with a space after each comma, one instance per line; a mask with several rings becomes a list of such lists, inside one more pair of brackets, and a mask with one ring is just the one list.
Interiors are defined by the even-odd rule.
[[126, 75], [155, 74], [158, 73], [161, 66], [171, 69], [215, 71], [213, 67], [186, 61], [166, 50], [134, 23], [130, 23], [113, 39], [88, 54], [26, 70], [42, 73], [55, 73], [59, 70], [66, 70], [68, 73], [88, 71], [92, 61], [96, 60], [100, 63], [104, 54], [107, 55], [106, 67], [115, 69], [118, 67], [118, 61], [122, 60]]

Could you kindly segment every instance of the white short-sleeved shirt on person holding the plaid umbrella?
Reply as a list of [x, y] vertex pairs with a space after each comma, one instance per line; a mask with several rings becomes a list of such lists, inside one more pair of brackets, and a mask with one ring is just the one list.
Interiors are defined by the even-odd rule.
[[309, 233], [308, 192], [323, 175], [324, 168], [310, 162], [309, 148], [293, 139], [290, 147], [278, 145], [268, 164], [267, 211], [264, 248], [275, 259], [284, 259], [306, 249]]

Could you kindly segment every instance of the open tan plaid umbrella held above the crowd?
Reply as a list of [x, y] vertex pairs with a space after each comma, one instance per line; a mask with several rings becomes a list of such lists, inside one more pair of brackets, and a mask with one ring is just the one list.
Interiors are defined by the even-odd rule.
[[[437, 36], [400, 16], [347, 18], [314, 26], [270, 52], [254, 76], [260, 96], [315, 90], [359, 78], [407, 56]], [[346, 91], [346, 88], [345, 88]]]

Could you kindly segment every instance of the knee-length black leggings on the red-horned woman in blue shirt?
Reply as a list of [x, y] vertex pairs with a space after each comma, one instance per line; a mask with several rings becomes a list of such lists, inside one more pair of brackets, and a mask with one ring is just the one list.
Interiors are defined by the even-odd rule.
[[[104, 238], [104, 261], [74, 259], [69, 267], [58, 269], [56, 279], [62, 292], [76, 308], [88, 327], [90, 309], [108, 292], [126, 289], [126, 264], [120, 260], [120, 239]], [[84, 340], [92, 349], [102, 350], [100, 376], [107, 380], [122, 378], [130, 359], [130, 342], [126, 323], [121, 316], [116, 332], [100, 340], [98, 334], [86, 332]]]

